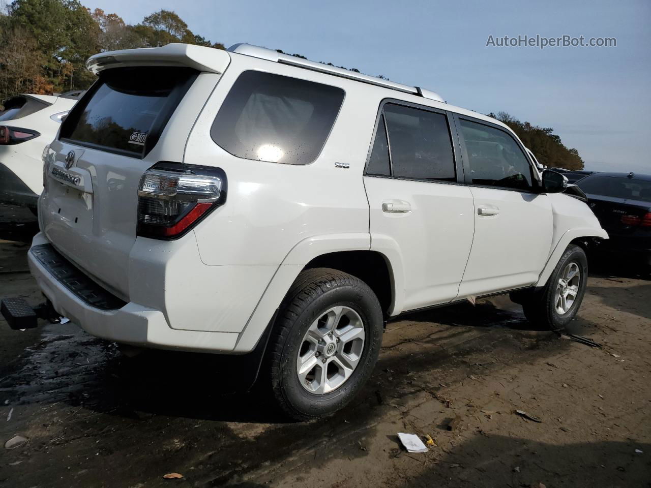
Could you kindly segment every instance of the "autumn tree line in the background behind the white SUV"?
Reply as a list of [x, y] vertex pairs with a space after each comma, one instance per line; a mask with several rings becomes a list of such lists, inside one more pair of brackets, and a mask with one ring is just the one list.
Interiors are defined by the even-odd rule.
[[[0, 104], [18, 93], [52, 94], [88, 88], [95, 79], [85, 66], [90, 56], [170, 42], [225, 49], [221, 42], [193, 33], [169, 10], [159, 10], [130, 25], [115, 13], [90, 10], [79, 0], [15, 0], [5, 7], [0, 5]], [[305, 59], [300, 54], [292, 56]], [[344, 69], [359, 73], [356, 68]], [[383, 75], [378, 78], [387, 79]], [[496, 117], [518, 134], [540, 163], [583, 168], [577, 150], [566, 148], [553, 129], [519, 122], [504, 112]]]

